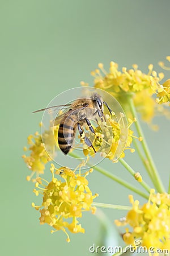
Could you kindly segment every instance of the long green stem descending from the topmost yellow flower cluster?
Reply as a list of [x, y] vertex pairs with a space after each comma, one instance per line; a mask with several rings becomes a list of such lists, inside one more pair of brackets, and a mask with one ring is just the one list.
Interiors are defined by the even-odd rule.
[[[129, 100], [129, 106], [130, 106], [130, 109], [131, 109], [131, 113], [133, 114], [133, 117], [137, 118], [137, 112], [135, 110], [133, 99], [131, 97], [128, 97], [128, 100]], [[156, 169], [154, 160], [152, 159], [150, 150], [147, 146], [147, 142], [146, 142], [146, 139], [144, 137], [142, 127], [140, 125], [139, 120], [135, 122], [135, 127], [138, 131], [139, 136], [143, 138], [143, 141], [141, 142], [141, 144], [142, 144], [143, 150], [146, 154], [147, 160], [148, 160], [148, 162], [150, 164], [150, 167], [151, 167], [151, 170], [152, 170], [152, 178], [151, 178], [152, 182], [154, 183], [155, 188], [158, 190], [158, 192], [163, 193], [165, 191], [165, 189], [164, 189], [164, 186], [163, 186], [162, 181], [160, 179], [158, 170]]]

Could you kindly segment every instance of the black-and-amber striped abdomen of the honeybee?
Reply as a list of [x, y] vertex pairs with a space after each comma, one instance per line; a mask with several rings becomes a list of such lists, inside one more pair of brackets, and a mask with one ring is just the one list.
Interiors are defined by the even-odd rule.
[[58, 145], [62, 152], [67, 155], [74, 142], [74, 126], [76, 120], [72, 117], [60, 123], [58, 129]]

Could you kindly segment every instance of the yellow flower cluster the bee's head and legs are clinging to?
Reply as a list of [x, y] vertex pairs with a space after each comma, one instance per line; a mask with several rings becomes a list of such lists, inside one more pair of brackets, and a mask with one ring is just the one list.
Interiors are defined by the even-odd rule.
[[[123, 113], [120, 113], [120, 119], [124, 117]], [[109, 158], [109, 160], [117, 160], [118, 157], [124, 158], [124, 150], [130, 149], [131, 152], [134, 152], [134, 148], [131, 148], [131, 143], [133, 138], [137, 138], [133, 135], [133, 131], [130, 130], [130, 126], [133, 122], [129, 118], [128, 127], [121, 127], [120, 123], [114, 121], [111, 115], [105, 115], [106, 122], [101, 123], [100, 126], [94, 127], [95, 130], [95, 139], [93, 142], [93, 148], [96, 152], [100, 152], [100, 155]], [[87, 127], [88, 129], [88, 127]], [[139, 141], [142, 141], [142, 137], [137, 138]], [[84, 155], [95, 155], [94, 149], [92, 147], [87, 147], [84, 144]]]

